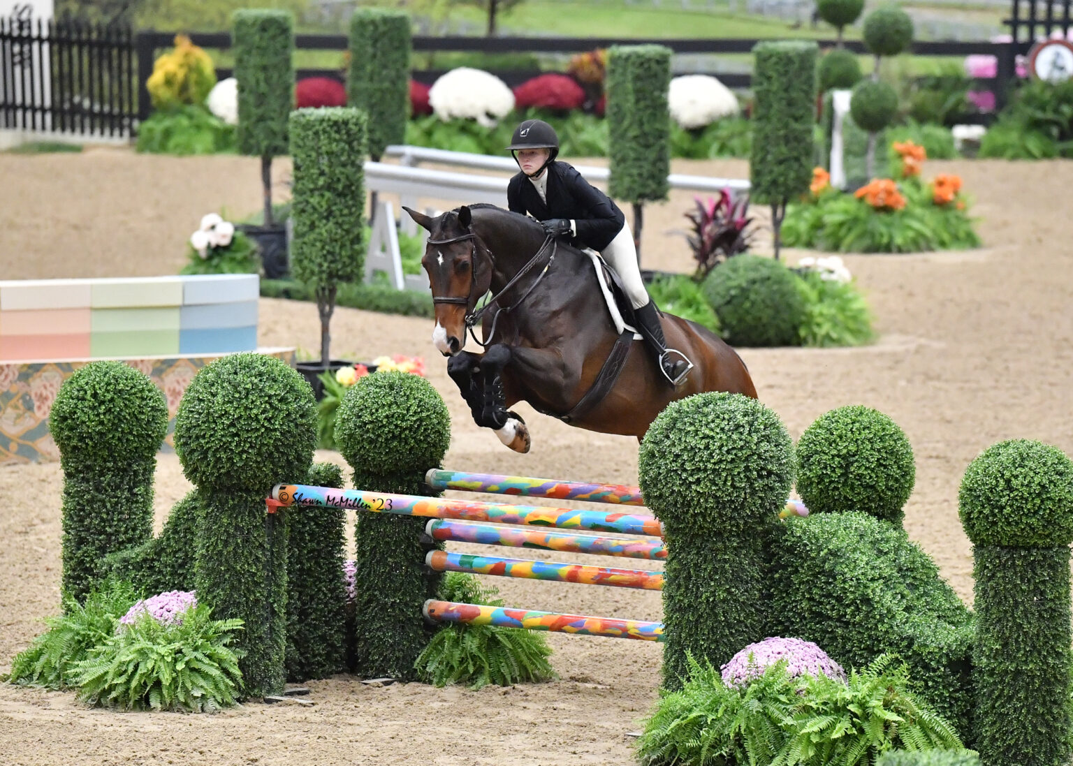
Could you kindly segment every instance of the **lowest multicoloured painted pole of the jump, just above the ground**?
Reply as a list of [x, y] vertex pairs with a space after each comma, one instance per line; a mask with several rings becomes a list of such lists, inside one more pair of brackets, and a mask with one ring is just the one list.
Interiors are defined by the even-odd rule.
[[531, 631], [575, 633], [577, 635], [606, 636], [608, 638], [635, 638], [663, 640], [663, 623], [645, 620], [619, 620], [611, 617], [564, 615], [558, 612], [528, 612], [502, 606], [459, 604], [453, 601], [425, 602], [422, 612], [433, 622], [460, 622], [470, 625], [502, 625]]

